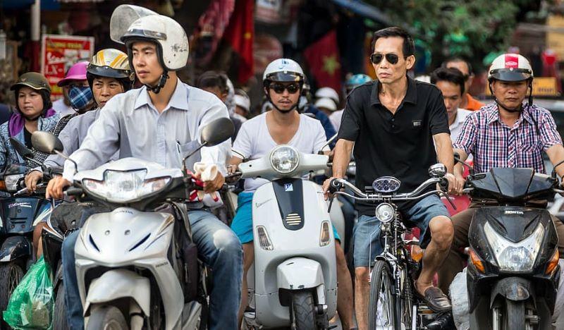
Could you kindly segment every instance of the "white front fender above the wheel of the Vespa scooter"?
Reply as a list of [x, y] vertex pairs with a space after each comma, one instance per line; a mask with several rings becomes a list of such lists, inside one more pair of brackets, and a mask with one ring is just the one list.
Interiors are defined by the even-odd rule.
[[324, 284], [323, 269], [319, 262], [303, 257], [286, 259], [276, 268], [278, 288], [301, 290]]

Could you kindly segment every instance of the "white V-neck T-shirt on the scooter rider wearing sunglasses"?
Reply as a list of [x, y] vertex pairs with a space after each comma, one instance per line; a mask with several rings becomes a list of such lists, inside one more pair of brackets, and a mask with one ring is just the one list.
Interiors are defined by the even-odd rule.
[[[233, 155], [247, 159], [259, 159], [276, 147], [278, 144], [272, 139], [269, 128], [266, 126], [266, 114], [245, 121], [233, 142]], [[300, 114], [300, 126], [288, 145], [295, 147], [305, 154], [315, 154], [327, 142], [325, 130], [321, 123], [305, 114]], [[239, 153], [239, 154], [237, 154]], [[263, 178], [245, 179], [245, 191], [253, 192], [264, 183], [269, 182]]]

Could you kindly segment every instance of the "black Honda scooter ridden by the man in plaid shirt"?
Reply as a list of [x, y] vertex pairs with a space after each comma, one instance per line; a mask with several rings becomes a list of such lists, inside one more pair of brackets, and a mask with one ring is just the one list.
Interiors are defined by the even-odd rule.
[[471, 329], [551, 329], [558, 236], [548, 211], [532, 202], [564, 193], [557, 187], [554, 171], [494, 168], [467, 178], [465, 193], [483, 203], [468, 235]]

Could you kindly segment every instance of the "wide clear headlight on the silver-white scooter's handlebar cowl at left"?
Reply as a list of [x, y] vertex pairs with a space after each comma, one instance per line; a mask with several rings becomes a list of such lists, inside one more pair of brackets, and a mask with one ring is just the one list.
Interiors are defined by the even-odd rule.
[[140, 197], [152, 195], [163, 190], [171, 177], [150, 178], [145, 180], [147, 170], [106, 171], [104, 181], [82, 179], [82, 187], [87, 192], [103, 197], [109, 202], [130, 202]]

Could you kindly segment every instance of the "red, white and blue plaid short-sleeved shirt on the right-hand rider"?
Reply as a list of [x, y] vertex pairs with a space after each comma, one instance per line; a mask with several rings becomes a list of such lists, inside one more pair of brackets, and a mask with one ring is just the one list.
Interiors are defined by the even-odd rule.
[[531, 168], [544, 173], [542, 152], [562, 145], [554, 118], [548, 110], [523, 104], [513, 127], [499, 118], [498, 106], [491, 103], [467, 116], [462, 134], [453, 143], [474, 156], [474, 171], [484, 173], [492, 167]]

